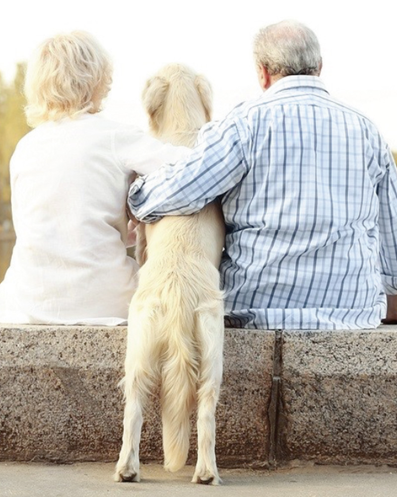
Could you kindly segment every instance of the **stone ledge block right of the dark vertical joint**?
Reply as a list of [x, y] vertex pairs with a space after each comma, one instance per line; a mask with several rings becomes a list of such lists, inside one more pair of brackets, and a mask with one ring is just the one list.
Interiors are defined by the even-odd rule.
[[397, 465], [397, 327], [284, 331], [277, 457]]

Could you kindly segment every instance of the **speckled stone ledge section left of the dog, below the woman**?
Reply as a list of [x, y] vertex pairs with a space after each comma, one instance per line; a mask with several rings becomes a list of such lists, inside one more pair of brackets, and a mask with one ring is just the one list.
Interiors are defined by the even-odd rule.
[[1, 329], [1, 458], [112, 459], [125, 329]]

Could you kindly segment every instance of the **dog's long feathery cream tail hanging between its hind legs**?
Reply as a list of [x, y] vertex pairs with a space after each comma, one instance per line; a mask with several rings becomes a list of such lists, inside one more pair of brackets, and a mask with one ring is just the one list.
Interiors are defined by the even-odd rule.
[[[186, 296], [185, 296], [186, 297]], [[195, 311], [175, 306], [166, 314], [168, 348], [162, 368], [164, 468], [178, 471], [188, 457], [190, 415], [198, 381], [198, 347], [194, 335]], [[184, 309], [181, 313], [180, 309]], [[190, 312], [189, 312], [190, 311]]]

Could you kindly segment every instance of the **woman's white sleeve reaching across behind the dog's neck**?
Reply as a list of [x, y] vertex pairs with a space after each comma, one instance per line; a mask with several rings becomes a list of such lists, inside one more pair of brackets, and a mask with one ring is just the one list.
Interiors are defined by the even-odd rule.
[[187, 147], [163, 143], [133, 126], [115, 132], [113, 147], [122, 169], [139, 175], [149, 174], [164, 163], [175, 164], [190, 153]]

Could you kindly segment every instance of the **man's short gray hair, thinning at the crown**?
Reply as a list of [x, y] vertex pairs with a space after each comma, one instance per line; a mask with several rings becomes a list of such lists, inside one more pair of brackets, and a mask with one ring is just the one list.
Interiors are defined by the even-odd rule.
[[319, 76], [320, 44], [314, 32], [296, 21], [282, 21], [262, 28], [254, 38], [256, 64], [270, 75]]

